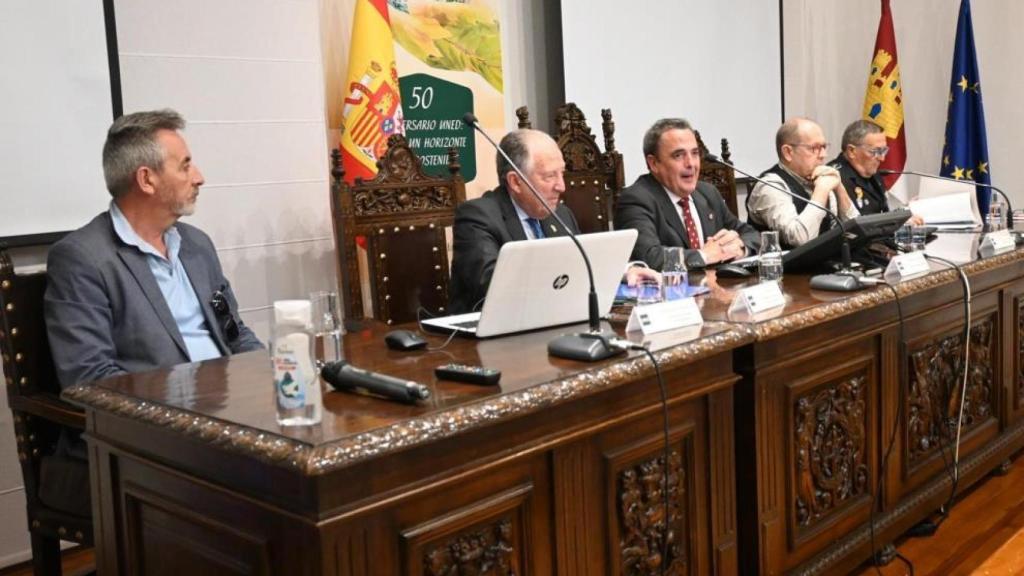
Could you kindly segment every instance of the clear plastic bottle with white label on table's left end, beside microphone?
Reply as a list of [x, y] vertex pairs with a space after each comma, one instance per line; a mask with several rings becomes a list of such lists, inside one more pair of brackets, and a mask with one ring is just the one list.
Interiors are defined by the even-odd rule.
[[282, 426], [318, 424], [323, 411], [319, 373], [313, 363], [309, 300], [273, 303], [270, 361]]

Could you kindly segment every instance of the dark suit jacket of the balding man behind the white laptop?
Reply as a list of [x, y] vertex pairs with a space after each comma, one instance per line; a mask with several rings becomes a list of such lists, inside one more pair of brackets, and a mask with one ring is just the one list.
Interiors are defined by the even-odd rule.
[[[580, 233], [575, 217], [564, 204], [559, 204], [555, 212], [572, 230], [572, 234]], [[566, 235], [553, 217], [544, 219], [542, 227], [548, 238]], [[460, 204], [455, 211], [454, 229], [449, 312], [463, 314], [473, 312], [474, 306], [487, 295], [502, 245], [514, 240], [526, 240], [526, 233], [504, 186]]]

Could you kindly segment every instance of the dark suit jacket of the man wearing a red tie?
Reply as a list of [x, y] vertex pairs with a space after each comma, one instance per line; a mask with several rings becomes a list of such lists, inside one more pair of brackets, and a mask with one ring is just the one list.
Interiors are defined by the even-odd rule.
[[[719, 194], [718, 189], [708, 182], [697, 182], [693, 191], [693, 204], [705, 238], [714, 236], [720, 230], [734, 230], [739, 234], [748, 252], [757, 252], [761, 245], [760, 235], [749, 223], [740, 221]], [[643, 260], [652, 269], [662, 270], [665, 263], [666, 246], [685, 248], [686, 268], [703, 268], [703, 259], [690, 246], [683, 232], [683, 219], [679, 217], [675, 204], [666, 194], [665, 188], [651, 174], [644, 174], [623, 190], [615, 202], [615, 229], [636, 229], [640, 235], [633, 247], [633, 259]]]

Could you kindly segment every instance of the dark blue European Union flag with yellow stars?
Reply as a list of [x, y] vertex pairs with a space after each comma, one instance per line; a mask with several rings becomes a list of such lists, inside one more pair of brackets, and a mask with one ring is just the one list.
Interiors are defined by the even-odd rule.
[[[956, 47], [953, 49], [953, 73], [949, 87], [949, 111], [946, 115], [946, 142], [942, 149], [943, 176], [959, 180], [991, 183], [988, 145], [985, 141], [985, 111], [981, 100], [981, 77], [974, 51], [974, 27], [971, 2], [962, 0], [956, 22]], [[988, 214], [991, 191], [977, 188], [978, 209]]]

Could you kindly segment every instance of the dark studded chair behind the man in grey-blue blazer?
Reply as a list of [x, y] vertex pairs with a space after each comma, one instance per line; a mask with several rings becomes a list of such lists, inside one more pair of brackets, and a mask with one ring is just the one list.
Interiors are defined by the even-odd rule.
[[82, 499], [69, 504], [42, 486], [74, 477], [84, 482], [81, 490], [86, 494], [89, 489], [88, 462], [55, 454], [61, 426], [83, 429], [85, 414], [59, 398], [43, 320], [45, 291], [46, 273], [14, 274], [10, 257], [0, 247], [0, 352], [37, 575], [60, 574], [60, 540], [92, 545], [88, 498], [79, 492]]

